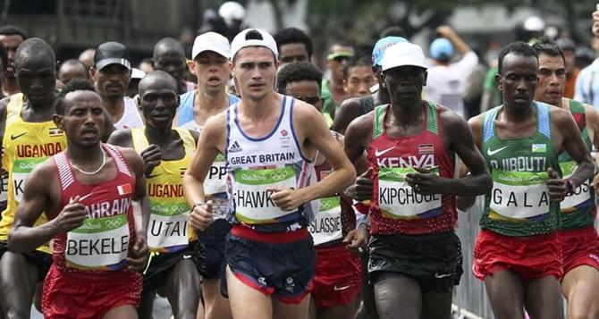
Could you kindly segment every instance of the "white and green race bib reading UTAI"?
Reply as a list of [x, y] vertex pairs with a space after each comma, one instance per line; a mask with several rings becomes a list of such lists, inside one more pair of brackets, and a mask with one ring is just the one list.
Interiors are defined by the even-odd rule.
[[150, 202], [148, 248], [173, 253], [187, 248], [190, 206], [187, 203]]

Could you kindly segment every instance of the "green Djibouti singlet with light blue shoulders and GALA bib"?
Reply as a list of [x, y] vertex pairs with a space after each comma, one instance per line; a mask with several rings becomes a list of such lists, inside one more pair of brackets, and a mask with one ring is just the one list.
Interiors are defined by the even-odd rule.
[[530, 138], [500, 139], [495, 118], [502, 106], [485, 113], [482, 153], [493, 177], [485, 196], [483, 229], [505, 236], [532, 236], [556, 231], [560, 206], [549, 200], [547, 169], [560, 172], [551, 136], [550, 105], [533, 102], [536, 131]]

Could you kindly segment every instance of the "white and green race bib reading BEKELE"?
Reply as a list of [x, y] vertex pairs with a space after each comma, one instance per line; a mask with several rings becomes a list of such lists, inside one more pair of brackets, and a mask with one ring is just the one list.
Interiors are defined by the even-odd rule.
[[85, 270], [119, 270], [125, 265], [129, 239], [126, 214], [86, 218], [79, 228], [67, 233], [64, 248], [67, 266]]

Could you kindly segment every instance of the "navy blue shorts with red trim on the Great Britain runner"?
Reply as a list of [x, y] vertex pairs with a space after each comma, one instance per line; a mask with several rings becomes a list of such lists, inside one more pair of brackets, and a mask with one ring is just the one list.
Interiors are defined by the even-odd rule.
[[[258, 238], [247, 236], [249, 232], [253, 231], [235, 225], [226, 237], [224, 259], [232, 273], [255, 290], [299, 304], [312, 292], [316, 267], [308, 231], [263, 233]], [[226, 281], [221, 281], [221, 293], [227, 297]]]

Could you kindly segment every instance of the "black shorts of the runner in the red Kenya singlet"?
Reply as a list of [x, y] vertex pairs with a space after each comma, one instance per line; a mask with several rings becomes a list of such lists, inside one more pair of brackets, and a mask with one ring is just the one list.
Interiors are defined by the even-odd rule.
[[451, 292], [460, 284], [462, 255], [454, 232], [434, 235], [373, 235], [368, 242], [368, 273], [373, 283], [402, 275], [423, 292]]

